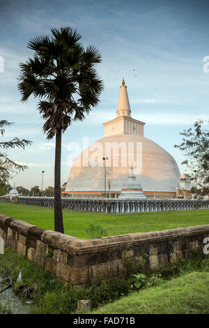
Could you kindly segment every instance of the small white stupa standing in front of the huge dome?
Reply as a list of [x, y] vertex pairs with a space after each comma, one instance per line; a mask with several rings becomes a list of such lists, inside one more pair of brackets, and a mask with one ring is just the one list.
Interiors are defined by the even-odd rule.
[[146, 195], [143, 193], [141, 184], [137, 181], [137, 177], [134, 176], [134, 169], [131, 165], [130, 173], [127, 177], [127, 182], [121, 189], [121, 195], [118, 196], [120, 199], [128, 200], [146, 200]]

